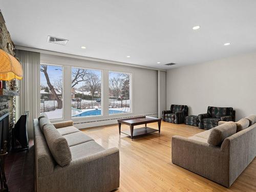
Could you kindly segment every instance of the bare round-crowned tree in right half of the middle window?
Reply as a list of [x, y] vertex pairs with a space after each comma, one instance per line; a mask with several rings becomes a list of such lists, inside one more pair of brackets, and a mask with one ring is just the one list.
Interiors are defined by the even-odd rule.
[[96, 92], [100, 91], [101, 88], [101, 80], [98, 75], [91, 73], [91, 78], [86, 82], [85, 88], [92, 95], [92, 107], [93, 107], [93, 98]]

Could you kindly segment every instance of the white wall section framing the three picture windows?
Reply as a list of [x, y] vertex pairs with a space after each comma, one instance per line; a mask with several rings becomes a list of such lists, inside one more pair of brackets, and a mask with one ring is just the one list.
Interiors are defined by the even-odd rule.
[[[135, 116], [135, 115], [147, 115], [158, 113], [158, 76], [156, 70], [142, 69], [129, 66], [114, 65], [106, 62], [91, 61], [76, 59], [71, 57], [56, 56], [50, 54], [41, 53], [41, 63], [48, 63], [51, 65], [64, 66], [64, 76], [70, 78], [63, 79], [63, 111], [64, 120], [71, 119], [71, 67], [82, 67], [90, 69], [100, 69], [103, 72], [103, 105], [104, 111], [103, 116], [98, 117], [83, 117], [75, 118], [75, 123], [82, 123], [76, 125], [79, 128], [98, 126], [109, 123], [116, 123], [116, 120], [109, 122], [99, 123], [84, 123], [94, 120], [103, 120], [111, 118], [120, 118], [124, 116]], [[108, 109], [108, 91], [109, 91], [109, 71], [126, 72], [132, 74], [132, 113], [117, 114], [109, 116], [106, 113]]]

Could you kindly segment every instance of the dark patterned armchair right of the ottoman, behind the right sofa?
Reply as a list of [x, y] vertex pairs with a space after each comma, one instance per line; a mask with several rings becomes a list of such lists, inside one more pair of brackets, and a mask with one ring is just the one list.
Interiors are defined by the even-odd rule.
[[198, 115], [199, 128], [209, 130], [218, 126], [219, 121], [234, 121], [236, 111], [233, 108], [208, 106], [207, 113]]

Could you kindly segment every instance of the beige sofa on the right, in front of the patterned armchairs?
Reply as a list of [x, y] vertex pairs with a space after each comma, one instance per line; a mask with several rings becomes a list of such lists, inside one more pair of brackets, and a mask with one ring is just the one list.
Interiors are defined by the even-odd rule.
[[172, 162], [226, 187], [256, 156], [256, 115], [185, 138], [172, 137]]

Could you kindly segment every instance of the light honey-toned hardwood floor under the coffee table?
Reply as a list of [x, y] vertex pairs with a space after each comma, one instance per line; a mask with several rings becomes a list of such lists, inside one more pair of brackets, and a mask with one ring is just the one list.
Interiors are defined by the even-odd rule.
[[[157, 123], [148, 126], [158, 127]], [[121, 130], [126, 129], [129, 126], [122, 124]], [[230, 188], [172, 163], [172, 136], [189, 137], [202, 131], [195, 126], [162, 122], [160, 136], [156, 132], [131, 141], [122, 133], [119, 136], [117, 124], [83, 130], [103, 147], [119, 148], [120, 187], [116, 191], [256, 191], [255, 159]]]

